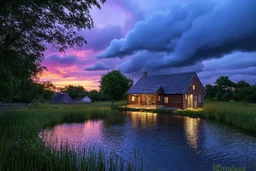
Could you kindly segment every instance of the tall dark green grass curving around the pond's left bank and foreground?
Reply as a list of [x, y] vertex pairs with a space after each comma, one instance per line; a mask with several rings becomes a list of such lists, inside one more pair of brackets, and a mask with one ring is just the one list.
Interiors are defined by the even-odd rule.
[[103, 150], [84, 149], [78, 154], [70, 147], [56, 150], [45, 147], [38, 136], [42, 129], [56, 124], [87, 119], [115, 124], [122, 116], [107, 104], [34, 104], [27, 109], [0, 111], [0, 171], [136, 170], [140, 168], [136, 163], [125, 162], [114, 152], [109, 155]]

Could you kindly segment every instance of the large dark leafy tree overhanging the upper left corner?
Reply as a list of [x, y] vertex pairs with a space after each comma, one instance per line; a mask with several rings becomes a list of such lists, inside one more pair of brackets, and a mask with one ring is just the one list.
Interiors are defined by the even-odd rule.
[[48, 44], [63, 52], [86, 43], [78, 32], [93, 27], [92, 6], [100, 8], [97, 0], [0, 1], [0, 100], [22, 98], [21, 89], [45, 69]]

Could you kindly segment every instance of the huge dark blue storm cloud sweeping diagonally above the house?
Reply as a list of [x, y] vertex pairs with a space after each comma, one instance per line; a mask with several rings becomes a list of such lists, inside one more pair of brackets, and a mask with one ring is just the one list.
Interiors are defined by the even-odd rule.
[[255, 0], [193, 1], [154, 13], [97, 57], [165, 52], [157, 66], [162, 68], [192, 65], [233, 51], [256, 51], [255, 21]]

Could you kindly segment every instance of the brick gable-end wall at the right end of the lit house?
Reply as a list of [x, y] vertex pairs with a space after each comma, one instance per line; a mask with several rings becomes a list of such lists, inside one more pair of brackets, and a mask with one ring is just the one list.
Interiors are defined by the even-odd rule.
[[[195, 90], [193, 90], [193, 85], [195, 85]], [[203, 89], [198, 77], [195, 76], [193, 78], [190, 86], [188, 87], [188, 90], [187, 90], [186, 94], [193, 94], [193, 97], [196, 96], [197, 97], [197, 107], [198, 108], [203, 107], [205, 94], [204, 94], [204, 89]], [[198, 98], [199, 94], [201, 94], [201, 101], [202, 101], [201, 103], [199, 103], [199, 98]], [[194, 101], [194, 99], [193, 99], [193, 101]], [[185, 94], [183, 95], [183, 104], [184, 104], [184, 106], [183, 106], [184, 109], [188, 107], [187, 106], [188, 105], [188, 99], [187, 100], [185, 99]]]

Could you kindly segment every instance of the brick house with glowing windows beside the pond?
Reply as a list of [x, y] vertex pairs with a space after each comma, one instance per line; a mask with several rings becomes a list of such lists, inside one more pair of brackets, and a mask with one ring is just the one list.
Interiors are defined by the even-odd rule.
[[144, 75], [126, 93], [131, 108], [201, 108], [204, 86], [195, 72]]

